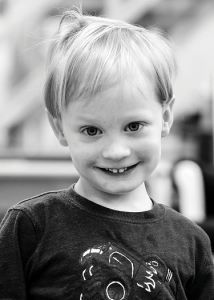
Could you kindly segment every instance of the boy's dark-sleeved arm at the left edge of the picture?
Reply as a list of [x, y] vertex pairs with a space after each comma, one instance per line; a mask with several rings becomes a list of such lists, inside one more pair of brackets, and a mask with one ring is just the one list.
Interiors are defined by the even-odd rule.
[[0, 299], [27, 299], [26, 264], [37, 244], [27, 215], [10, 210], [0, 225]]

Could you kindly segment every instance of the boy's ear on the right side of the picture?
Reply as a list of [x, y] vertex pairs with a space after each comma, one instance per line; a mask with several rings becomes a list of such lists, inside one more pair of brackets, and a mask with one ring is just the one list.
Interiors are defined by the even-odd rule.
[[161, 136], [165, 137], [169, 134], [170, 128], [173, 123], [173, 106], [174, 106], [175, 98], [173, 97], [169, 103], [163, 106], [163, 124]]

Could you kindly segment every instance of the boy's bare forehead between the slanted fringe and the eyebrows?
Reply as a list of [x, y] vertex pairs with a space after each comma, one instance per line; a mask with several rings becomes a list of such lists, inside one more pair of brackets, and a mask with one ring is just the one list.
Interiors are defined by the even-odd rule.
[[[97, 114], [125, 113], [127, 116], [142, 107], [143, 102], [157, 100], [154, 84], [142, 78], [126, 79], [109, 88], [96, 92], [92, 97], [84, 96], [71, 101], [66, 111], [71, 114], [75, 111], [80, 117], [93, 119]], [[135, 109], [136, 107], [136, 109]]]

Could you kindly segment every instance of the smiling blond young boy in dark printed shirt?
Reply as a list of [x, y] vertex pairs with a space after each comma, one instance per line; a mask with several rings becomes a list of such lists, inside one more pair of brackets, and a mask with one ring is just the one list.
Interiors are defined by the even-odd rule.
[[79, 180], [6, 214], [0, 299], [214, 299], [209, 238], [144, 185], [173, 120], [170, 43], [72, 10], [48, 66], [47, 114]]

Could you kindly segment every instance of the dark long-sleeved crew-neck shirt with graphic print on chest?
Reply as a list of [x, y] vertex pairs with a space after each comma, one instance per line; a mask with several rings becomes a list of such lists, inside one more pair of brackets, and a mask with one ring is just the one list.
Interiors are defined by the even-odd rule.
[[0, 299], [213, 300], [210, 241], [154, 202], [97, 205], [73, 188], [13, 206], [0, 227]]

